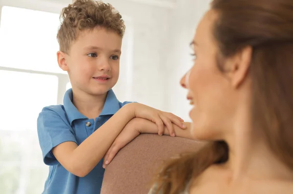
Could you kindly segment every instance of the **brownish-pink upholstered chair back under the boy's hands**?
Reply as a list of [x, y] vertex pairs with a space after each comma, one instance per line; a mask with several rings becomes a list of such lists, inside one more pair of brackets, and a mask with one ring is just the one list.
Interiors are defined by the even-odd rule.
[[106, 168], [101, 194], [147, 194], [163, 160], [200, 145], [179, 137], [139, 135]]

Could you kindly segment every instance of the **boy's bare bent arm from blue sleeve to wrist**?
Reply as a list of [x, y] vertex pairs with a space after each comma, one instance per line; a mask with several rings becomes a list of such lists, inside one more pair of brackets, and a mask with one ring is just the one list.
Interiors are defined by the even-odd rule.
[[129, 108], [124, 106], [104, 125], [93, 132], [79, 146], [72, 141], [59, 144], [52, 149], [55, 158], [69, 172], [83, 177], [103, 158], [121, 130], [133, 118]]

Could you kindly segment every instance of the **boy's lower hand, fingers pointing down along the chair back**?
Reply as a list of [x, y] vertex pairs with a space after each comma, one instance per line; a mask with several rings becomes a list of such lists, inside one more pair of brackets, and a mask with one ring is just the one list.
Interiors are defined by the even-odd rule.
[[132, 119], [127, 123], [125, 128], [120, 132], [117, 136], [109, 150], [105, 153], [103, 168], [105, 169], [106, 165], [108, 165], [112, 159], [115, 157], [117, 152], [125, 147], [129, 142], [131, 142], [135, 137], [137, 137], [141, 132], [138, 128], [139, 120]]

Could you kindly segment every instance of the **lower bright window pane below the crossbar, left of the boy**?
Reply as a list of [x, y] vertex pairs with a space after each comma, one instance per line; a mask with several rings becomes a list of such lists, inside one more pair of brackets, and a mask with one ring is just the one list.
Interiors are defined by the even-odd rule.
[[[42, 107], [57, 103], [58, 77], [0, 70], [0, 188], [4, 194], [40, 194], [48, 175], [37, 122]], [[29, 180], [29, 181], [28, 181]]]

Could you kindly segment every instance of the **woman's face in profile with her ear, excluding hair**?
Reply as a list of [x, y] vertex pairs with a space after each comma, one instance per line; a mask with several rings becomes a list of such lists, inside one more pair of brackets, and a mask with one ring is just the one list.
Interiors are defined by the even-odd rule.
[[188, 87], [187, 97], [193, 105], [189, 115], [194, 137], [203, 140], [218, 140], [231, 131], [250, 100], [247, 73], [251, 48], [245, 47], [230, 58], [222, 57], [213, 34], [218, 20], [215, 10], [209, 10], [202, 18], [190, 44], [194, 65], [181, 80], [182, 86]]

